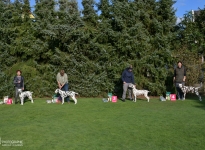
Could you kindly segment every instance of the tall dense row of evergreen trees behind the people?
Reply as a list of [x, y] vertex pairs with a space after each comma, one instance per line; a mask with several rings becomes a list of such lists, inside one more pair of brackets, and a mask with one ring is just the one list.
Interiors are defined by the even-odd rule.
[[[82, 4], [81, 14], [76, 1], [37, 1], [32, 19], [28, 0], [0, 1], [0, 96], [13, 95], [18, 69], [26, 90], [38, 97], [54, 93], [56, 74], [62, 68], [68, 74], [69, 89], [80, 96], [108, 92], [121, 96], [121, 73], [129, 64], [137, 88], [152, 95], [173, 88], [178, 50], [181, 45], [188, 47], [192, 39], [185, 34], [191, 25], [184, 29], [175, 24], [174, 1], [100, 0], [96, 4], [83, 0]], [[203, 38], [201, 34], [198, 40]], [[198, 45], [189, 48], [198, 53]]]

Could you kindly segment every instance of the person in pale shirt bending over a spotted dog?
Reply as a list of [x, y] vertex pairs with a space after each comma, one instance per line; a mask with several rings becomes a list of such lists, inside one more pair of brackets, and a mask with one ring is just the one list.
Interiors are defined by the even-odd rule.
[[[56, 79], [59, 89], [61, 89], [62, 91], [68, 91], [68, 76], [63, 69], [61, 69], [60, 72], [57, 74]], [[62, 100], [61, 96], [60, 99]], [[68, 103], [70, 102], [69, 97], [66, 97], [65, 100]]]

